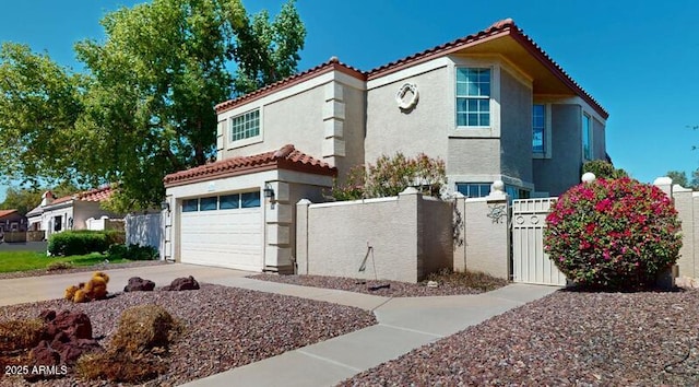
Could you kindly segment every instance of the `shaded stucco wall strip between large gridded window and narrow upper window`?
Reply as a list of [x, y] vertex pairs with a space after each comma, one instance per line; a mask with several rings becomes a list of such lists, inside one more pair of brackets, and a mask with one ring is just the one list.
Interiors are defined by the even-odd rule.
[[500, 87], [501, 173], [532, 183], [532, 90], [508, 71]]

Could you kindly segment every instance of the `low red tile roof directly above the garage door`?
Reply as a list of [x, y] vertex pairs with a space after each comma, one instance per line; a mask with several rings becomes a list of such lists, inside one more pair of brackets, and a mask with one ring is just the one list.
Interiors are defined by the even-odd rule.
[[335, 176], [337, 174], [335, 167], [298, 151], [292, 144], [286, 144], [279, 150], [270, 152], [251, 156], [225, 159], [211, 164], [176, 172], [165, 176], [163, 180], [166, 187], [173, 187], [276, 168], [327, 176]]

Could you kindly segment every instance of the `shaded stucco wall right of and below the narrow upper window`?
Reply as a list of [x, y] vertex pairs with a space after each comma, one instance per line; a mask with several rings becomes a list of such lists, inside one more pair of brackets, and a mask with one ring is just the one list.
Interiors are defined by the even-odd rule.
[[552, 157], [534, 160], [534, 184], [540, 192], [559, 196], [580, 181], [582, 167], [581, 108], [552, 105]]

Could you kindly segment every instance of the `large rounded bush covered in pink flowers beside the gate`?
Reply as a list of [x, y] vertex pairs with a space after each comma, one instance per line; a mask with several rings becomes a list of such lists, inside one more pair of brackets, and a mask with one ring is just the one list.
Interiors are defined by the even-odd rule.
[[569, 280], [584, 286], [652, 285], [682, 247], [670, 198], [628, 177], [572, 187], [558, 198], [546, 226], [544, 250]]

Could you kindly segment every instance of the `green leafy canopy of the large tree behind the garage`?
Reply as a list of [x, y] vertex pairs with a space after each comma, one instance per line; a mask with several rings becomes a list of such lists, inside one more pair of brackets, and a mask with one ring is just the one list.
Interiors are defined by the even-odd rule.
[[293, 74], [306, 30], [294, 0], [273, 20], [239, 0], [153, 0], [75, 45], [84, 71], [0, 48], [0, 174], [37, 185], [118, 183], [110, 207], [158, 203], [163, 177], [215, 154], [214, 105]]

